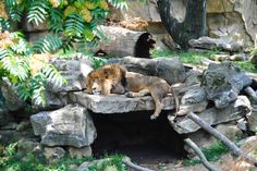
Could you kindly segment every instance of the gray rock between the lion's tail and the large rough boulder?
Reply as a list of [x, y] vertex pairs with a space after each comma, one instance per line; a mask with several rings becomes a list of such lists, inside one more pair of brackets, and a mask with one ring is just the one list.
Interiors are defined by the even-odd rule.
[[178, 115], [184, 115], [187, 112], [203, 112], [208, 105], [207, 95], [204, 87], [194, 86], [189, 88], [181, 99], [180, 111]]

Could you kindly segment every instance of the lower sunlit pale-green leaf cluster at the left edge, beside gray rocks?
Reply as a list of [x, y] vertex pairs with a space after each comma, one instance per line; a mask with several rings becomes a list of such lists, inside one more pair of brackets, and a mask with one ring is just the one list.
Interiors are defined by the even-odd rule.
[[[45, 106], [45, 87], [48, 84], [60, 87], [65, 83], [65, 80], [53, 65], [47, 62], [38, 60], [37, 63], [41, 65], [41, 69], [37, 69], [37, 63], [32, 63], [35, 60], [33, 52], [54, 50], [60, 44], [51, 40], [48, 42], [47, 38], [49, 37], [47, 37], [46, 40], [41, 40], [34, 48], [30, 48], [21, 33], [9, 34], [5, 32], [2, 35], [4, 36], [2, 40], [7, 44], [0, 48], [0, 81], [4, 76], [8, 77], [22, 100], [33, 100], [35, 105]], [[38, 71], [35, 72], [34, 70]]]

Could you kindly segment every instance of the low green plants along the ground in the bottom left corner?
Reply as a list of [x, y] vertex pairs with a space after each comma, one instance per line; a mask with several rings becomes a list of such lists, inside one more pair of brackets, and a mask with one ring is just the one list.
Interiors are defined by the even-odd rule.
[[71, 158], [63, 157], [57, 162], [49, 163], [44, 157], [36, 157], [34, 154], [22, 155], [17, 152], [17, 144], [10, 144], [7, 147], [0, 146], [0, 168], [1, 171], [75, 171], [71, 164], [81, 166], [85, 161], [93, 164], [87, 171], [103, 171], [107, 168], [115, 168], [119, 171], [125, 171], [122, 163], [124, 158], [121, 155], [108, 155], [103, 159], [94, 161], [94, 158]]

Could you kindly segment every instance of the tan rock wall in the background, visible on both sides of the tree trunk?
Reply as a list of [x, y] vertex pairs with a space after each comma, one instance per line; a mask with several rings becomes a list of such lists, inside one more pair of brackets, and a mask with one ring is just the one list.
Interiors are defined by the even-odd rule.
[[[127, 0], [128, 10], [122, 10], [112, 19], [128, 21], [140, 17], [148, 22], [147, 30], [167, 34], [154, 0], [148, 3]], [[256, 0], [207, 0], [208, 36], [225, 37], [236, 40], [241, 45], [253, 45], [257, 32], [257, 3]], [[179, 21], [185, 16], [185, 1], [172, 0], [171, 14]], [[161, 26], [161, 29], [160, 29]]]

